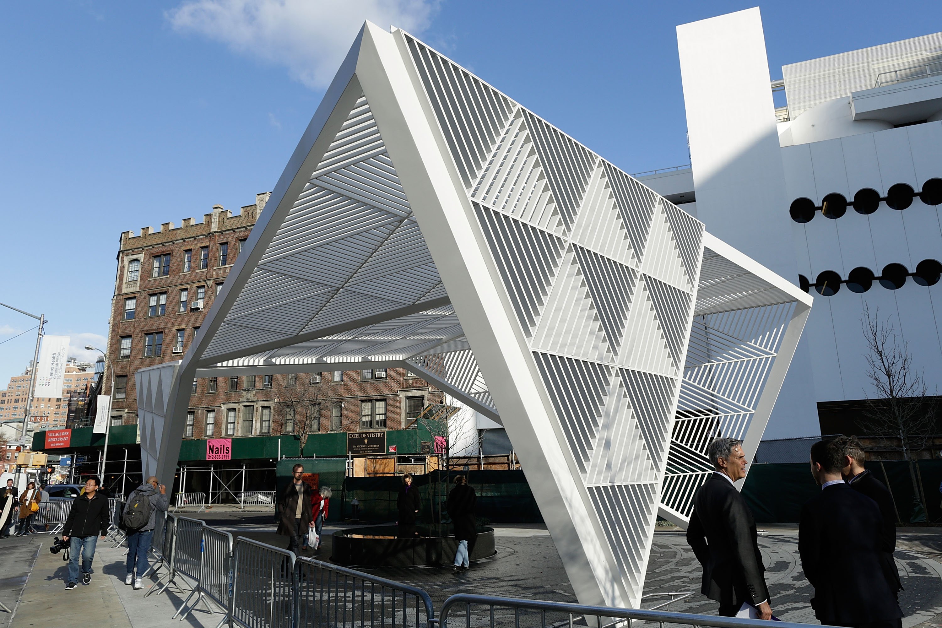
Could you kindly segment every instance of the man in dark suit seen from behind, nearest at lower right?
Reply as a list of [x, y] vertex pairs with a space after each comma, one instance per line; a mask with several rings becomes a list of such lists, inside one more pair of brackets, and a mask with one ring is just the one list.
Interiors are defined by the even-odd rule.
[[883, 569], [888, 548], [880, 507], [841, 477], [843, 448], [811, 445], [811, 475], [821, 487], [802, 508], [798, 553], [815, 588], [811, 606], [821, 623], [851, 628], [901, 628], [902, 611]]

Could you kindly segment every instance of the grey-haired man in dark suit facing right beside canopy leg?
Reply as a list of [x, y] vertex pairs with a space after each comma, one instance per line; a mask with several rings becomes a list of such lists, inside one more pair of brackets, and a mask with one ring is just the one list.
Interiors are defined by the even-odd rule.
[[716, 472], [693, 497], [687, 542], [704, 568], [701, 591], [720, 603], [720, 615], [733, 617], [748, 602], [761, 619], [771, 620], [755, 520], [733, 484], [746, 476], [741, 444], [729, 438], [709, 443], [707, 457]]

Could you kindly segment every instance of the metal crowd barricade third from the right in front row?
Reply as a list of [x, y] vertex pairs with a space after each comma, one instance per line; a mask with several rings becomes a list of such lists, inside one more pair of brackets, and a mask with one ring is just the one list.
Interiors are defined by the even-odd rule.
[[295, 555], [245, 537], [235, 539], [233, 555], [229, 614], [219, 626], [227, 622], [245, 628], [294, 626]]

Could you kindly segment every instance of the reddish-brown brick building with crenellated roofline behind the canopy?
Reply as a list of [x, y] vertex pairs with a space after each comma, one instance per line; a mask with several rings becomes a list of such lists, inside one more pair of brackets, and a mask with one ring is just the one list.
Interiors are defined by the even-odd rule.
[[[237, 216], [217, 205], [202, 223], [185, 218], [177, 228], [122, 233], [108, 336], [112, 426], [137, 423], [138, 369], [183, 357], [266, 201], [268, 193], [258, 194]], [[110, 372], [106, 394], [109, 386]], [[402, 429], [442, 400], [404, 369], [200, 378], [185, 438]]]

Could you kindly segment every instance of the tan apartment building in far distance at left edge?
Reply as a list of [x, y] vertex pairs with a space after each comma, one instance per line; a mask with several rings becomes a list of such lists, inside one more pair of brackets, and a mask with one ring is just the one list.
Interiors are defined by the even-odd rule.
[[[6, 390], [0, 390], [0, 422], [12, 427], [19, 433], [22, 423], [10, 423], [22, 419], [26, 411], [29, 394], [29, 378], [32, 377], [31, 367], [27, 367], [23, 375], [13, 376], [9, 379]], [[30, 429], [55, 429], [65, 427], [69, 415], [69, 398], [73, 393], [89, 395], [95, 383], [93, 365], [85, 362], [70, 360], [65, 367], [63, 376], [62, 396], [35, 397], [30, 412]], [[8, 430], [9, 431], [9, 430]]]

